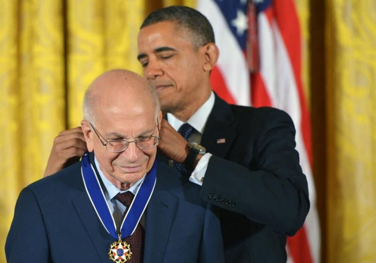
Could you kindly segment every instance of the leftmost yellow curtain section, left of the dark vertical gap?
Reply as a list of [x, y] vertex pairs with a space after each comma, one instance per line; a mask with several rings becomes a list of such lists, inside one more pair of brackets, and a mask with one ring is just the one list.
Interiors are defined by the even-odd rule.
[[1, 0], [0, 260], [20, 189], [41, 178], [64, 129], [62, 6]]

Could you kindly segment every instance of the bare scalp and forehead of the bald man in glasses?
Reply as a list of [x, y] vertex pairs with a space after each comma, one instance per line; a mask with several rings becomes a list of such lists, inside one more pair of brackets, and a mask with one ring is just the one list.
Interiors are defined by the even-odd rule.
[[85, 93], [85, 120], [94, 124], [102, 113], [144, 110], [153, 106], [155, 118], [159, 113], [158, 95], [147, 80], [128, 70], [111, 70], [95, 79]]

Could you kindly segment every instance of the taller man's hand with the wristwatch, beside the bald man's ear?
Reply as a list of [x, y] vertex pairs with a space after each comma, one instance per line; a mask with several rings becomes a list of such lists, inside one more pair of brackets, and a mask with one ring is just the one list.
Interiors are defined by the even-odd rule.
[[161, 121], [159, 130], [161, 139], [158, 149], [174, 162], [182, 163], [188, 155], [188, 142], [165, 120]]

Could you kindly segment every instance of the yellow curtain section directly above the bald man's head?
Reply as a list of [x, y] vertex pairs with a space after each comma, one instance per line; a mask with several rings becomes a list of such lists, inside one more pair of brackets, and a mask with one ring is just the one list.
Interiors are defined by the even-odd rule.
[[113, 68], [141, 74], [137, 34], [144, 1], [70, 0], [67, 4], [68, 126], [83, 118], [82, 98], [95, 77]]

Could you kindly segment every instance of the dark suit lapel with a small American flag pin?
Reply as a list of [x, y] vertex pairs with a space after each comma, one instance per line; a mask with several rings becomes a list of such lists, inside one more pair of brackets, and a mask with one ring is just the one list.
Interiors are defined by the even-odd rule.
[[202, 146], [207, 152], [223, 158], [237, 136], [237, 128], [231, 106], [215, 94], [214, 106], [202, 135]]

